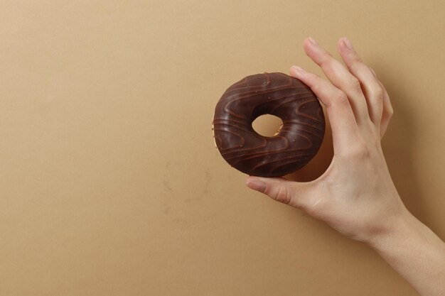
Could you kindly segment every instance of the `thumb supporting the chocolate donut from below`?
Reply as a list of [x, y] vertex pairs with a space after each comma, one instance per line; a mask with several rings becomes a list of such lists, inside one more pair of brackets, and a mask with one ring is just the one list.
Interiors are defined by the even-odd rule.
[[300, 209], [306, 208], [309, 198], [309, 183], [294, 182], [282, 177], [248, 177], [246, 185], [252, 190], [266, 194], [277, 202]]

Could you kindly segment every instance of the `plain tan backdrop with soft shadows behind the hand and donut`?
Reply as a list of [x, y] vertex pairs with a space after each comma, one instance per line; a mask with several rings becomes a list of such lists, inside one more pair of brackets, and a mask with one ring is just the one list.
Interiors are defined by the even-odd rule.
[[[0, 295], [417, 295], [376, 253], [247, 190], [213, 146], [233, 82], [321, 72], [347, 35], [386, 84], [407, 207], [445, 239], [444, 1], [0, 1]], [[332, 157], [331, 136], [308, 167]]]

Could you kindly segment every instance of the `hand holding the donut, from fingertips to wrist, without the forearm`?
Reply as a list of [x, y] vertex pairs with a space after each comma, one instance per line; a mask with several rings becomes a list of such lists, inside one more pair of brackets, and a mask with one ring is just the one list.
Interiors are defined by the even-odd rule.
[[390, 98], [347, 38], [338, 40], [346, 67], [312, 38], [304, 40], [304, 50], [330, 82], [300, 67], [290, 72], [326, 106], [333, 136], [331, 165], [311, 182], [249, 177], [247, 186], [304, 210], [351, 239], [369, 242], [407, 214], [380, 144], [392, 116]]

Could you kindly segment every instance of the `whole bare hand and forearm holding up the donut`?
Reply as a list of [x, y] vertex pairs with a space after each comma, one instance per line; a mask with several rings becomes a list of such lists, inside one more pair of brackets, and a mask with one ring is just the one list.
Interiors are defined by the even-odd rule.
[[368, 243], [421, 295], [445, 295], [445, 243], [404, 207], [382, 152], [393, 114], [390, 97], [347, 38], [337, 46], [345, 65], [313, 38], [304, 40], [306, 55], [328, 80], [301, 67], [290, 70], [326, 106], [331, 165], [311, 182], [249, 177], [246, 184]]

